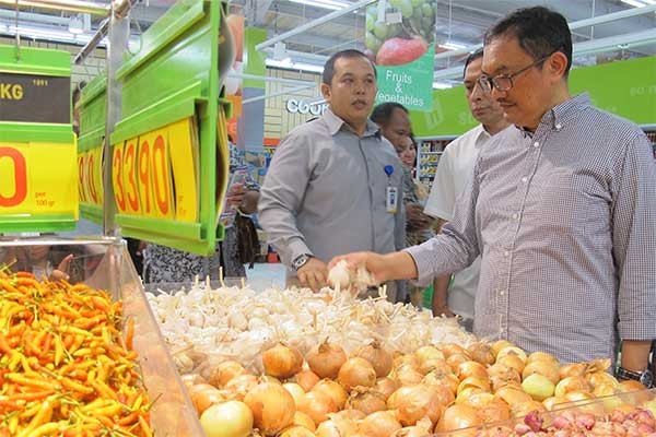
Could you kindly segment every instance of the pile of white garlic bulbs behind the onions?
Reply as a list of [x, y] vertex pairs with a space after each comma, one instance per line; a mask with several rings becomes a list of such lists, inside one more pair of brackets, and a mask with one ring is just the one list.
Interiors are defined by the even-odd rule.
[[402, 353], [427, 344], [467, 346], [475, 341], [455, 319], [433, 318], [430, 311], [391, 304], [385, 296], [361, 300], [329, 288], [257, 293], [245, 284], [212, 288], [197, 283], [189, 291], [147, 296], [180, 374], [225, 359], [261, 371], [261, 353], [278, 342], [305, 355], [327, 338], [347, 353], [373, 340]]

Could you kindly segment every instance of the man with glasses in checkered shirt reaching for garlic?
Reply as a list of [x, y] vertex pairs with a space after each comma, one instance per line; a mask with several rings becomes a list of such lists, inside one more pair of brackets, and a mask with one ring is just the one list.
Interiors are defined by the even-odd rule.
[[[377, 281], [420, 284], [480, 253], [475, 332], [563, 363], [616, 357], [642, 371], [656, 338], [656, 168], [634, 123], [571, 96], [565, 19], [537, 7], [485, 35], [480, 84], [511, 127], [481, 151], [443, 234], [351, 253]], [[626, 78], [630, 80], [630, 78]]]

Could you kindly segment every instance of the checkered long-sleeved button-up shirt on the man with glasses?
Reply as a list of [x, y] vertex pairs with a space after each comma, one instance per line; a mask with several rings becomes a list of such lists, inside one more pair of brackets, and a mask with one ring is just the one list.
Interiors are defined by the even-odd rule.
[[563, 363], [656, 338], [656, 165], [640, 128], [583, 94], [481, 151], [444, 233], [406, 249], [419, 282], [481, 253], [475, 332]]

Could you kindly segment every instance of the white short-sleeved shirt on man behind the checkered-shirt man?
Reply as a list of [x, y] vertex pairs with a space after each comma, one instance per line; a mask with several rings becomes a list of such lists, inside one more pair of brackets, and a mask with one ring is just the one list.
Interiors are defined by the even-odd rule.
[[[482, 125], [465, 132], [452, 141], [440, 157], [431, 194], [424, 212], [447, 222], [453, 220], [456, 200], [461, 194], [473, 173], [479, 151], [491, 138]], [[448, 307], [455, 314], [473, 318], [473, 300], [478, 287], [480, 257], [471, 265], [454, 275], [448, 292]]]

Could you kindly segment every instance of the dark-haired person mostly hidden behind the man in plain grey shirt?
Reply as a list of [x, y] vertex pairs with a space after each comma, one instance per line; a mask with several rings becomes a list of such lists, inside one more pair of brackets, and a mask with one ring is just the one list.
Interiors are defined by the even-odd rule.
[[[412, 132], [408, 109], [401, 104], [387, 102], [376, 105], [372, 111], [372, 121], [380, 127], [380, 132], [397, 153], [406, 149]], [[417, 189], [412, 177], [412, 168], [403, 166], [403, 204], [406, 206], [406, 241], [412, 246], [414, 236], [430, 227], [432, 218], [423, 213], [423, 208], [417, 199]]]

